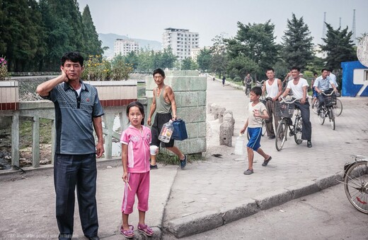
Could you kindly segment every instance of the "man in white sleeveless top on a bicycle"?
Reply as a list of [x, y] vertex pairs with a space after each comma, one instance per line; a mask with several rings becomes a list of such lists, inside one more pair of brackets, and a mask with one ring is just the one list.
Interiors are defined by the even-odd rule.
[[[262, 92], [267, 92], [266, 96], [266, 109], [269, 119], [266, 119], [266, 131], [268, 139], [275, 139], [275, 131], [279, 125], [280, 117], [276, 116], [275, 112], [275, 102], [278, 101], [282, 93], [282, 83], [281, 80], [275, 78], [275, 71], [273, 68], [268, 68], [266, 71], [266, 76], [268, 80], [263, 83]], [[273, 128], [272, 121], [275, 119], [275, 130]]]

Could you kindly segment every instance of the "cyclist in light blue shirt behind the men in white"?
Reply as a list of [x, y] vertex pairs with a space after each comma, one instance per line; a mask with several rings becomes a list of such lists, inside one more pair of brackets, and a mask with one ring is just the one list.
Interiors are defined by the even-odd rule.
[[321, 71], [321, 76], [316, 78], [316, 80], [314, 81], [314, 85], [313, 85], [314, 90], [316, 90], [316, 92], [318, 93], [317, 95], [317, 98], [318, 98], [317, 113], [318, 114], [320, 114], [321, 107], [324, 104], [324, 99], [323, 99], [323, 95], [321, 94], [321, 92], [324, 92], [326, 94], [330, 93], [331, 92], [330, 86], [333, 88], [335, 92], [338, 92], [334, 81], [330, 77], [328, 77], [328, 70], [326, 68], [323, 68]]

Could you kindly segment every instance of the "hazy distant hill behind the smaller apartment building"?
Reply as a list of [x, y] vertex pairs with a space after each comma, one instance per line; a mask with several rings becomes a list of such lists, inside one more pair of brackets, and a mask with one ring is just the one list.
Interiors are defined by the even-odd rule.
[[139, 43], [139, 49], [151, 49], [154, 51], [161, 50], [161, 42], [153, 40], [142, 40], [137, 38], [130, 38], [125, 35], [117, 35], [114, 33], [98, 33], [98, 39], [102, 41], [102, 47], [108, 47], [103, 53], [103, 56], [113, 57], [114, 56], [114, 42], [116, 39], [130, 39]]

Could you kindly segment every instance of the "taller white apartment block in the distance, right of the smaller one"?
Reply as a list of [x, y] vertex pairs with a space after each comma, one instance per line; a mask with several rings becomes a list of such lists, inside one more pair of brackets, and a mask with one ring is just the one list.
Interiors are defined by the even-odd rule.
[[166, 28], [163, 32], [163, 49], [171, 47], [173, 54], [179, 60], [190, 57], [193, 49], [200, 47], [200, 35], [198, 32], [189, 32], [187, 29]]

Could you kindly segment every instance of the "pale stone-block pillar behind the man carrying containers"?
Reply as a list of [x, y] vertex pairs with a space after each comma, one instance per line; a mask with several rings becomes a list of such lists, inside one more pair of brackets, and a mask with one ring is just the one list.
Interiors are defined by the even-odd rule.
[[[205, 76], [198, 71], [166, 71], [164, 83], [175, 93], [177, 115], [185, 121], [188, 139], [176, 141], [176, 146], [185, 154], [202, 153], [206, 145], [206, 90]], [[146, 78], [147, 113], [152, 103], [153, 89], [157, 85], [152, 76]], [[153, 121], [153, 119], [152, 119]]]

